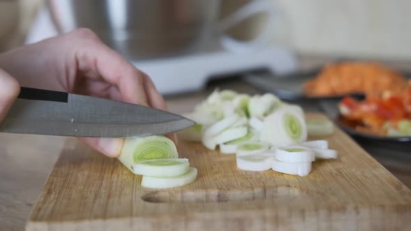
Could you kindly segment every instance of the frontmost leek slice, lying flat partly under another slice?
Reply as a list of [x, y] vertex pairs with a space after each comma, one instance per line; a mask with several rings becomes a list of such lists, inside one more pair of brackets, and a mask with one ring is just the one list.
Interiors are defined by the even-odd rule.
[[149, 189], [167, 189], [192, 183], [196, 180], [196, 177], [197, 168], [190, 167], [187, 173], [177, 177], [152, 177], [144, 175], [143, 180], [141, 180], [141, 186]]

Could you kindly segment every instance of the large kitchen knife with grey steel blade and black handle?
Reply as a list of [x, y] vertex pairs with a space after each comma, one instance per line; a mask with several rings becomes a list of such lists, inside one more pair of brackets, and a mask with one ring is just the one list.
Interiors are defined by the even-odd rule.
[[52, 136], [137, 137], [178, 132], [195, 122], [148, 106], [21, 88], [0, 132]]

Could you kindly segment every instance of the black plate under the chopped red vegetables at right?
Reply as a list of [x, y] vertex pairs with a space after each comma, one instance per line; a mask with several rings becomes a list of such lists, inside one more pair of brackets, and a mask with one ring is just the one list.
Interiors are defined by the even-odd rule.
[[340, 114], [336, 116], [335, 122], [341, 129], [348, 133], [353, 138], [368, 141], [378, 141], [384, 143], [410, 143], [411, 136], [377, 136], [373, 134], [365, 134], [354, 129], [352, 123], [343, 118]]

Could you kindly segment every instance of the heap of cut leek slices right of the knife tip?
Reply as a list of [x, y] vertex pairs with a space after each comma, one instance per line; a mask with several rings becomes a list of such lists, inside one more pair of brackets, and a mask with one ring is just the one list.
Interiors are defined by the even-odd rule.
[[179, 132], [180, 138], [201, 142], [222, 154], [236, 154], [243, 170], [272, 169], [305, 176], [316, 158], [335, 159], [327, 141], [307, 141], [307, 136], [329, 135], [332, 122], [306, 120], [300, 106], [275, 95], [245, 95], [215, 90], [192, 113], [195, 127]]

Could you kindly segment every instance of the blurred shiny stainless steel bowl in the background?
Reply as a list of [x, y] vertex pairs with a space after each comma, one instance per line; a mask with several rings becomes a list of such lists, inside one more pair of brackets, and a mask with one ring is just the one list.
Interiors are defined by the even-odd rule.
[[47, 0], [61, 33], [86, 27], [129, 59], [187, 54], [212, 36], [219, 0]]

